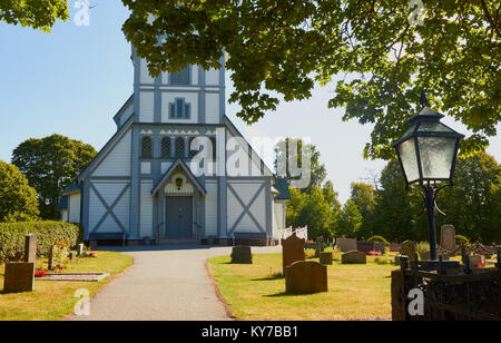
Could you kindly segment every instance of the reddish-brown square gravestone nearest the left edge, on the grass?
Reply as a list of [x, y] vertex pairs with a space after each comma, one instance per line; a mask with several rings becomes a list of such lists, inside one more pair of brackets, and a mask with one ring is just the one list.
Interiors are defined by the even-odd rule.
[[3, 281], [3, 292], [33, 291], [35, 262], [8, 262]]

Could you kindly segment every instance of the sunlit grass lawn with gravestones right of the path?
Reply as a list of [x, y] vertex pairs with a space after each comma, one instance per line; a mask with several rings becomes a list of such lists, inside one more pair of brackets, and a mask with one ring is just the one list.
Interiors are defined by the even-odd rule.
[[[390, 320], [391, 271], [367, 257], [366, 265], [342, 265], [334, 253], [327, 266], [328, 292], [285, 294], [282, 254], [255, 254], [252, 265], [229, 264], [229, 256], [209, 259], [219, 291], [238, 320]], [[310, 261], [318, 261], [311, 258]]]

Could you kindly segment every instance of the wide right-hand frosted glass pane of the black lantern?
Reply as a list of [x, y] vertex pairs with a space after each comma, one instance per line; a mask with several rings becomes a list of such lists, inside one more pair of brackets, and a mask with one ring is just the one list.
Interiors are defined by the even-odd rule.
[[455, 138], [419, 137], [424, 179], [448, 179], [455, 154]]

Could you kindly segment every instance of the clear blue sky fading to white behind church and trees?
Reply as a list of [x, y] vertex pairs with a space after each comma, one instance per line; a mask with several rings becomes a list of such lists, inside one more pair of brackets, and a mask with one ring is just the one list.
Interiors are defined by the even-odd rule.
[[[116, 130], [112, 116], [132, 92], [130, 45], [121, 32], [128, 10], [119, 0], [94, 0], [90, 26], [78, 27], [75, 0], [69, 3], [70, 20], [58, 22], [50, 35], [0, 23], [1, 160], [10, 161], [24, 139], [55, 133], [100, 149]], [[228, 75], [226, 84], [229, 94]], [[362, 158], [372, 127], [343, 122], [342, 109], [327, 108], [333, 95], [332, 86], [317, 87], [311, 99], [283, 102], [252, 127], [235, 116], [237, 105], [228, 105], [226, 114], [247, 137], [310, 137], [345, 202], [350, 184], [380, 171], [385, 161]], [[450, 118], [443, 121], [466, 133]], [[501, 160], [499, 135], [488, 153]]]

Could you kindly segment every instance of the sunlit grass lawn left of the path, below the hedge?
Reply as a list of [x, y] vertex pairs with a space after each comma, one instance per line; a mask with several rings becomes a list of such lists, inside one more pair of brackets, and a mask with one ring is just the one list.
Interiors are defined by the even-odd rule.
[[[97, 257], [78, 258], [68, 264], [65, 273], [105, 272], [121, 273], [132, 262], [128, 255], [114, 252], [96, 252]], [[47, 261], [37, 261], [38, 267], [47, 267]], [[95, 294], [111, 277], [100, 282], [35, 281], [35, 291], [29, 293], [3, 293], [4, 268], [0, 265], [0, 321], [55, 321], [71, 313], [78, 298], [78, 288], [87, 288]]]

